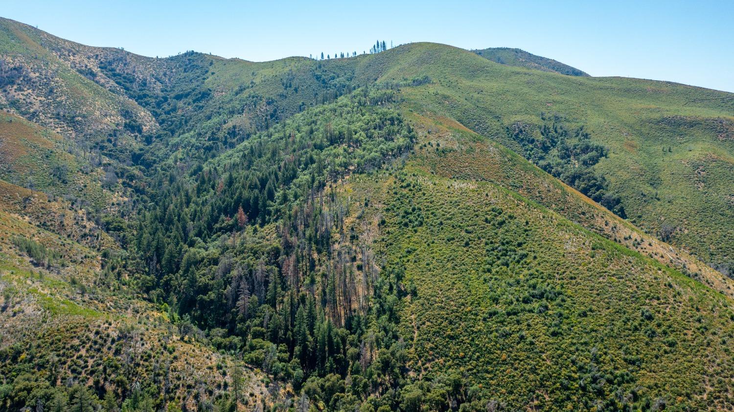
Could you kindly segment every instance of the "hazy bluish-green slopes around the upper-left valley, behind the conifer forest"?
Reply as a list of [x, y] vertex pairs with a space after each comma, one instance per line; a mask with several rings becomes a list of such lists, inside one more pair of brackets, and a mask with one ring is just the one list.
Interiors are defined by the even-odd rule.
[[62, 135], [80, 134], [88, 147], [123, 164], [155, 167], [177, 151], [215, 156], [353, 90], [349, 68], [326, 70], [312, 59], [247, 62], [193, 51], [152, 58], [7, 19], [0, 27], [0, 108]]

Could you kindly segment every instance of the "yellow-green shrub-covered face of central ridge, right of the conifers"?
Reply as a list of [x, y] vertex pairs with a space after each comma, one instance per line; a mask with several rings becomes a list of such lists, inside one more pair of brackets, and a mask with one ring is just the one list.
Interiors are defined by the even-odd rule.
[[[542, 173], [496, 145], [475, 162], [479, 148], [454, 141], [470, 161], [463, 174], [447, 173], [431, 159], [427, 142], [439, 137], [430, 124], [398, 178], [350, 183], [355, 198], [386, 206], [375, 253], [404, 267], [405, 287], [416, 291], [401, 311], [416, 376], [458, 369], [509, 410], [592, 408], [615, 397], [734, 408], [730, 297], [500, 184], [473, 180], [487, 168], [520, 172], [505, 185]], [[451, 153], [438, 157], [451, 164]], [[501, 181], [502, 172], [495, 176], [485, 180]]]

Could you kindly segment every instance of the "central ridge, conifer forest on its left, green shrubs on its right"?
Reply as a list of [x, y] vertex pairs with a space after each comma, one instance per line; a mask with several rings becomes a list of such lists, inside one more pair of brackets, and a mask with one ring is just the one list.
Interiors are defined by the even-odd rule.
[[399, 96], [357, 90], [171, 184], [144, 238], [196, 223], [150, 293], [183, 282], [179, 308], [330, 410], [733, 408], [731, 279], [449, 118], [405, 126]]

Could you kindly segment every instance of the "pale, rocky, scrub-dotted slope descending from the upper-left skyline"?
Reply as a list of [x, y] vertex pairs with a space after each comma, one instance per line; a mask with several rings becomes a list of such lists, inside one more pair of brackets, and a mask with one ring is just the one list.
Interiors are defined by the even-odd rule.
[[92, 81], [95, 73], [85, 62], [54, 40], [57, 37], [25, 24], [0, 20], [0, 109], [81, 147], [124, 158], [118, 146], [136, 145], [156, 124], [134, 101]]

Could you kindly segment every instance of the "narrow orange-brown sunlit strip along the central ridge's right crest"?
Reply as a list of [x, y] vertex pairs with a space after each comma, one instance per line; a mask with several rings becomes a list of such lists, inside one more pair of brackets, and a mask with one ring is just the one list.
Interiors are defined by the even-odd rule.
[[734, 281], [677, 247], [645, 234], [503, 145], [456, 120], [413, 114], [420, 144], [413, 165], [444, 178], [488, 181], [558, 212], [607, 239], [734, 297]]

